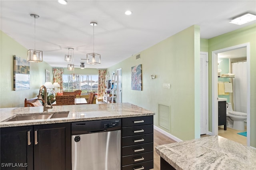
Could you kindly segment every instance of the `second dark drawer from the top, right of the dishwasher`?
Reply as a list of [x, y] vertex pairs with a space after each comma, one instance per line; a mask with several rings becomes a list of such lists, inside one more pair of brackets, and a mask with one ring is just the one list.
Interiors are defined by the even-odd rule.
[[135, 127], [123, 127], [122, 136], [153, 133], [153, 125], [141, 125]]

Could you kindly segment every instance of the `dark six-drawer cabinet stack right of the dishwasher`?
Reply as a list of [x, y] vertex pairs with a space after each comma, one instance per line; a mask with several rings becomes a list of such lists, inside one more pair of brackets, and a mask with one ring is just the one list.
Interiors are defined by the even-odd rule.
[[153, 116], [122, 119], [122, 170], [154, 168]]

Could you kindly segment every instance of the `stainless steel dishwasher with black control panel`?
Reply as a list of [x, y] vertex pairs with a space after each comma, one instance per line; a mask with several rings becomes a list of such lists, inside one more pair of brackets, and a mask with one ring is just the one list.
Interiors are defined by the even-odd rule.
[[72, 123], [72, 170], [121, 168], [121, 119]]

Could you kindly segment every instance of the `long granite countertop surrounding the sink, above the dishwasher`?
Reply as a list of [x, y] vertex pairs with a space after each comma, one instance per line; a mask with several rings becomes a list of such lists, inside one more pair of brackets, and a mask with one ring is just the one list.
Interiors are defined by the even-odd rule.
[[[68, 117], [54, 119], [38, 119], [26, 121], [9, 121], [19, 115], [60, 114], [69, 112]], [[102, 119], [117, 119], [155, 115], [152, 111], [143, 109], [130, 103], [108, 103], [92, 105], [63, 105], [53, 106], [48, 112], [43, 107], [17, 107], [0, 109], [0, 127], [17, 127], [26, 125], [40, 125], [51, 123], [92, 121]]]

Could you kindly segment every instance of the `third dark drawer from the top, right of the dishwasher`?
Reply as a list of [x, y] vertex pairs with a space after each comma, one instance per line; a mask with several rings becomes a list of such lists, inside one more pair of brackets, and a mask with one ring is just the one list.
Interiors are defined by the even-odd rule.
[[122, 137], [122, 146], [153, 142], [153, 134]]

